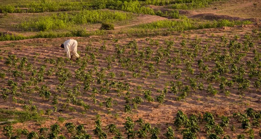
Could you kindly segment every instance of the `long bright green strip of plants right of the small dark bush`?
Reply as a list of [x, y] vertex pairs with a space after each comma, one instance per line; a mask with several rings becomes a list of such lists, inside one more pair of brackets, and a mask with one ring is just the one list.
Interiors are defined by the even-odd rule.
[[180, 21], [163, 20], [153, 23], [146, 23], [137, 25], [132, 29], [122, 30], [119, 34], [127, 34], [128, 37], [152, 37], [152, 36], [168, 36], [172, 35], [174, 31], [185, 31], [191, 29], [206, 29], [215, 27], [233, 27], [234, 25], [251, 24], [251, 21], [229, 21], [226, 19], [218, 21], [207, 21], [199, 23], [191, 19], [184, 19]]

